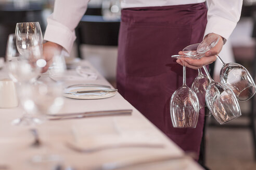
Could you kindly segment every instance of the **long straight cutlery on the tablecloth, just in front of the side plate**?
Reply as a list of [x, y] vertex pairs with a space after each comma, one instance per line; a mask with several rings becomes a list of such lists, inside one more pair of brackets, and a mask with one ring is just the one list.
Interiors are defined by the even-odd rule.
[[132, 109], [124, 109], [124, 110], [105, 110], [105, 111], [88, 111], [74, 114], [56, 114], [50, 115], [54, 118], [48, 118], [48, 120], [65, 120], [65, 119], [80, 119], [86, 117], [99, 117], [99, 116], [120, 116], [120, 115], [131, 115]]

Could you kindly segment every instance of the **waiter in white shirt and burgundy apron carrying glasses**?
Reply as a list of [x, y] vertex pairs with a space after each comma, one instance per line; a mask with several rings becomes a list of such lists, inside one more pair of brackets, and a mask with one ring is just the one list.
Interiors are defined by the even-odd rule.
[[[84, 15], [88, 0], [56, 0], [47, 19], [46, 47], [70, 53], [75, 27]], [[121, 0], [117, 87], [120, 94], [185, 151], [199, 153], [204, 109], [195, 129], [174, 129], [170, 98], [182, 85], [182, 64], [187, 85], [197, 76], [197, 68], [216, 60], [234, 30], [242, 0]], [[175, 59], [184, 47], [200, 43], [210, 34], [219, 43], [199, 60]], [[50, 59], [50, 55], [46, 56]], [[177, 64], [178, 63], [178, 64]], [[181, 65], [179, 65], [181, 64]], [[193, 69], [191, 69], [193, 68]]]

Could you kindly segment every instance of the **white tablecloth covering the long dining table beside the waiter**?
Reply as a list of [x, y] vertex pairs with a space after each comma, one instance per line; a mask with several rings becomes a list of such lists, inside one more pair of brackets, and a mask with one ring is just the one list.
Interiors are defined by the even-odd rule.
[[[92, 65], [86, 61], [82, 61], [80, 64], [89, 66], [97, 73]], [[0, 71], [0, 79], [8, 77], [6, 72], [6, 68]], [[67, 81], [66, 86], [75, 83], [109, 85], [102, 76], [98, 75], [96, 80]], [[100, 100], [65, 98], [65, 105], [59, 112], [72, 113], [112, 109], [133, 109], [133, 112], [132, 116], [46, 121], [36, 126], [42, 140], [42, 146], [31, 147], [34, 140], [30, 132], [31, 126], [12, 126], [10, 124], [15, 118], [22, 116], [21, 106], [11, 109], [0, 108], [0, 169], [3, 166], [7, 166], [8, 169], [51, 169], [58, 165], [72, 166], [75, 169], [95, 169], [107, 163], [127, 163], [184, 154], [119, 93]], [[78, 153], [69, 149], [66, 146], [67, 142], [84, 148], [123, 142], [161, 144], [164, 145], [164, 148], [119, 148], [95, 153]], [[36, 155], [45, 158], [56, 155], [54, 158], [57, 161], [36, 163]], [[31, 161], [32, 158], [34, 161]], [[202, 168], [193, 160], [188, 159], [134, 166], [130, 169], [193, 170]]]

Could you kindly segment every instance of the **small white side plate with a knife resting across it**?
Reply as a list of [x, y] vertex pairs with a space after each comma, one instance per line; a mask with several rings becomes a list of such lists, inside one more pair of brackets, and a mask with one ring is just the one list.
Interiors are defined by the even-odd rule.
[[68, 92], [76, 91], [88, 91], [88, 90], [109, 90], [110, 88], [101, 86], [79, 86], [79, 87], [69, 87], [64, 90], [63, 96], [76, 99], [100, 99], [108, 98], [116, 95], [117, 92], [93, 92], [93, 93], [72, 93], [65, 94]]

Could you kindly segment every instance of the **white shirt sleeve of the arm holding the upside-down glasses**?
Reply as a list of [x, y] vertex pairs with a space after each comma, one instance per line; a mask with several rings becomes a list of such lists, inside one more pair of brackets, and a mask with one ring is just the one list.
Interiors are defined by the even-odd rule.
[[207, 7], [208, 22], [204, 36], [215, 33], [228, 39], [239, 21], [242, 0], [207, 0]]

